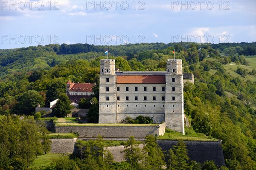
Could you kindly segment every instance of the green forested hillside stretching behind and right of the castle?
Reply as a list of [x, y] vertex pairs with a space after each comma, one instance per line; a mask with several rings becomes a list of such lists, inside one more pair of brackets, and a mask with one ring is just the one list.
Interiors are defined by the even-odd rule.
[[165, 71], [174, 49], [175, 58], [183, 59], [183, 72], [195, 77], [195, 85], [184, 85], [190, 129], [222, 140], [230, 170], [256, 169], [256, 42], [50, 44], [0, 50], [0, 114], [35, 116], [38, 103], [48, 106], [63, 97], [69, 79], [99, 83], [106, 50], [120, 71]]

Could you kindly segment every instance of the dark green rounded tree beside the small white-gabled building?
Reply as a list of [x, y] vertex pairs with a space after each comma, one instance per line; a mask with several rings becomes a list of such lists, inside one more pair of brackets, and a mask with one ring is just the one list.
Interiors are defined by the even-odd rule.
[[52, 108], [52, 112], [58, 117], [67, 117], [68, 114], [71, 113], [72, 106], [70, 105], [70, 99], [66, 94], [61, 94], [58, 98], [58, 101], [54, 108]]

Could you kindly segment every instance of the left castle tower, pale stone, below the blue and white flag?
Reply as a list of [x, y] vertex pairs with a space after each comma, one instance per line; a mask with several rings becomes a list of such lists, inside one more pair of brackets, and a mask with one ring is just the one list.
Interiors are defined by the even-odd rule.
[[99, 123], [116, 123], [116, 70], [114, 59], [100, 60]]

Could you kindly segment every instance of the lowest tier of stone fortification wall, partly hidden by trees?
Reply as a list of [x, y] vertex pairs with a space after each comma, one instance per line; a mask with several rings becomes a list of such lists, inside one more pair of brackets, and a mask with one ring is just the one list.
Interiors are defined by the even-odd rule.
[[[86, 140], [86, 139], [85, 139]], [[115, 140], [115, 139], [112, 139]], [[118, 140], [118, 139], [116, 139]], [[75, 139], [51, 139], [51, 153], [76, 153], [79, 154], [78, 148], [75, 146]], [[178, 141], [171, 140], [157, 140], [157, 143], [163, 151], [168, 151]], [[221, 141], [218, 142], [206, 142], [206, 141], [184, 141], [188, 150], [188, 156], [190, 159], [200, 163], [204, 163], [207, 160], [213, 160], [218, 167], [224, 165], [224, 155], [221, 146]], [[140, 144], [140, 148], [143, 148], [143, 144]], [[115, 146], [105, 148], [109, 150], [114, 157], [114, 161], [125, 161], [124, 146]]]

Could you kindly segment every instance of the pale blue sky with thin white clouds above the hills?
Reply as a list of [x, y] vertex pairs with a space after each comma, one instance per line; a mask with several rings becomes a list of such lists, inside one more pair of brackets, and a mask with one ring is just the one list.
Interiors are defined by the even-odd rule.
[[0, 0], [0, 49], [255, 42], [256, 0]]

